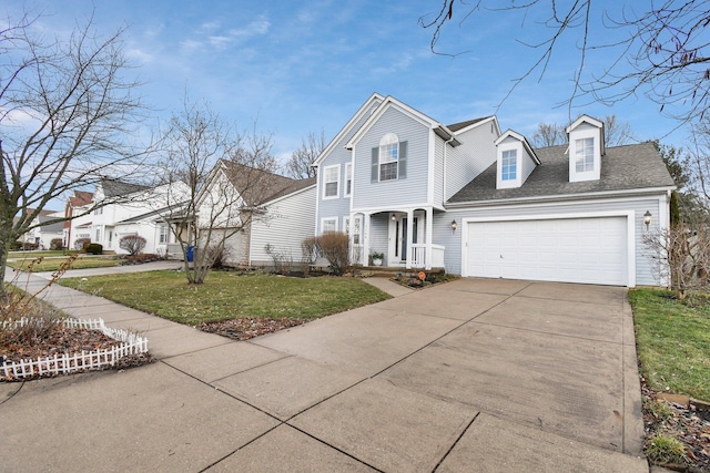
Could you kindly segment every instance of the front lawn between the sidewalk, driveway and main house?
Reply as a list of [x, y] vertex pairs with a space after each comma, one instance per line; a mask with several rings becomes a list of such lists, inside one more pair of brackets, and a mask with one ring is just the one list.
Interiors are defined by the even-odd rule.
[[69, 278], [60, 284], [192, 326], [242, 317], [316, 319], [389, 298], [354, 278], [222, 271], [194, 286], [179, 271], [93, 276], [85, 281]]

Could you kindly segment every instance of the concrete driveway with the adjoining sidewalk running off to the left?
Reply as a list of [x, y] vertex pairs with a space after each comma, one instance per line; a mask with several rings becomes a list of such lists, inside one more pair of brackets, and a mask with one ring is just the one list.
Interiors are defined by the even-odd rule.
[[0, 385], [9, 471], [648, 472], [623, 288], [463, 279], [247, 342], [49, 298], [161, 361]]

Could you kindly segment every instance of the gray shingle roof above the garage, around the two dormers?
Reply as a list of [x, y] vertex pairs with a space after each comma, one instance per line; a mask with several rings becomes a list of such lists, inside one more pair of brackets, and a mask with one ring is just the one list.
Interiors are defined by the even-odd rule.
[[496, 163], [494, 163], [448, 202], [483, 204], [486, 200], [515, 200], [547, 196], [574, 197], [575, 194], [674, 186], [652, 143], [607, 148], [607, 154], [601, 156], [600, 179], [580, 183], [569, 182], [569, 158], [565, 154], [566, 150], [567, 145], [535, 150], [541, 164], [518, 188], [496, 188]]

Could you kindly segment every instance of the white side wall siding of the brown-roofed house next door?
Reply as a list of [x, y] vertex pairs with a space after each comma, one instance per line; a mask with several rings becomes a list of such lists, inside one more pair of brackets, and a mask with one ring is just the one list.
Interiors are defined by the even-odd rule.
[[270, 244], [278, 250], [291, 254], [294, 263], [302, 257], [301, 243], [314, 235], [315, 186], [288, 195], [268, 207], [270, 217], [265, 222], [252, 223], [250, 264], [272, 265], [264, 251]]

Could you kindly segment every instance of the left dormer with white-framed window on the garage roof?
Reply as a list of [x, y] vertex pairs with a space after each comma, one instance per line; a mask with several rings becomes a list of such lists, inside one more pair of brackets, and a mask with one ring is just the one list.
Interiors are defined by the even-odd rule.
[[527, 140], [511, 131], [505, 132], [496, 144], [496, 188], [520, 187], [540, 161]]

